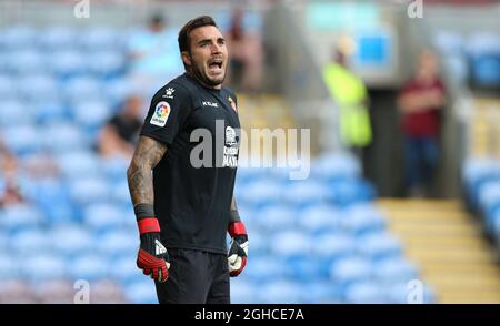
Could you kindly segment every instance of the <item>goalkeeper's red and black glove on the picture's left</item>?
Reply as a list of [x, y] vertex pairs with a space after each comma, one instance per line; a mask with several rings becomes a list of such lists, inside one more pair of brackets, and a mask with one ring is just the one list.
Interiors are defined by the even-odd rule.
[[137, 256], [137, 266], [144, 275], [158, 282], [169, 277], [169, 254], [160, 241], [160, 225], [157, 217], [141, 217], [138, 221], [141, 244]]

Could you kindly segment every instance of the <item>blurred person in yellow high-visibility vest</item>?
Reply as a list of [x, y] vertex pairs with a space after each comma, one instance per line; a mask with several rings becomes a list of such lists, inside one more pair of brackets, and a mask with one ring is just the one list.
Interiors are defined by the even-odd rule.
[[322, 74], [330, 95], [339, 106], [339, 134], [342, 144], [362, 156], [362, 147], [368, 146], [372, 139], [367, 88], [347, 68], [346, 55], [340, 50], [336, 50], [334, 62], [328, 63]]

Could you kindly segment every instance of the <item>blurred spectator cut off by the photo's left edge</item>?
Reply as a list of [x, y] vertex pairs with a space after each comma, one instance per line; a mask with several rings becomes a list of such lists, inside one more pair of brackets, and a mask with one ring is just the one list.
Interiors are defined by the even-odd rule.
[[22, 203], [23, 196], [18, 184], [18, 160], [2, 143], [0, 143], [0, 208]]

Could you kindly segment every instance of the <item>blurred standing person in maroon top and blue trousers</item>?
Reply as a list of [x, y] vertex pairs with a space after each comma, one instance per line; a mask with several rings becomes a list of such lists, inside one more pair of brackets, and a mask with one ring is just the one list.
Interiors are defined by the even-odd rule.
[[432, 51], [420, 53], [417, 73], [402, 88], [398, 104], [402, 113], [407, 192], [422, 197], [429, 194], [438, 165], [440, 112], [446, 104], [444, 85]]

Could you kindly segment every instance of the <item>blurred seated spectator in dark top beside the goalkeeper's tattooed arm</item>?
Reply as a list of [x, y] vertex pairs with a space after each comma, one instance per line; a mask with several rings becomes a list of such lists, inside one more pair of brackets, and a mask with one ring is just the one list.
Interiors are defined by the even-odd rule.
[[142, 120], [142, 101], [138, 96], [130, 96], [122, 110], [113, 115], [99, 133], [99, 152], [104, 157], [131, 157], [133, 144], [139, 136]]

